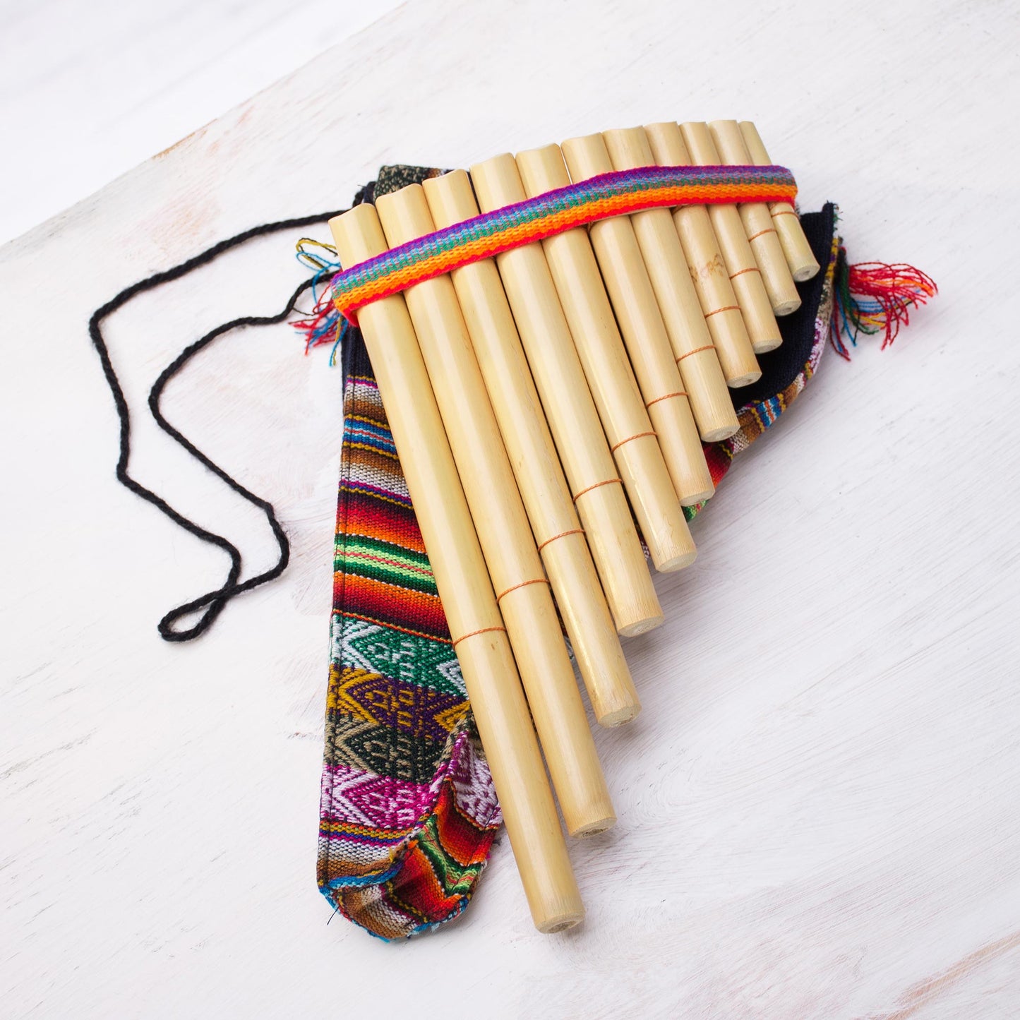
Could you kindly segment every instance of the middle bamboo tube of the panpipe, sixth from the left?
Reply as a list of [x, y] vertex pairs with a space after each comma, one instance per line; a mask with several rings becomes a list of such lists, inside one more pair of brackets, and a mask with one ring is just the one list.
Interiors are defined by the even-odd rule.
[[[601, 135], [570, 139], [561, 148], [575, 182], [613, 169]], [[681, 505], [702, 503], [715, 486], [630, 217], [599, 220], [589, 238], [673, 489]]]

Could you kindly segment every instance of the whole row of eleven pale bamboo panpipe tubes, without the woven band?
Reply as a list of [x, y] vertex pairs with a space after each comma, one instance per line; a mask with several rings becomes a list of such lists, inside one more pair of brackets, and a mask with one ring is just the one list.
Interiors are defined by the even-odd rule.
[[[496, 156], [329, 225], [354, 267], [604, 174], [727, 165], [771, 165], [753, 124], [655, 123]], [[645, 549], [660, 571], [694, 560], [702, 444], [736, 431], [730, 394], [760, 377], [795, 280], [818, 268], [788, 202], [659, 206], [357, 310], [542, 931], [583, 917], [557, 803], [570, 836], [616, 820], [563, 631], [596, 720], [632, 720], [620, 638], [663, 620]]]

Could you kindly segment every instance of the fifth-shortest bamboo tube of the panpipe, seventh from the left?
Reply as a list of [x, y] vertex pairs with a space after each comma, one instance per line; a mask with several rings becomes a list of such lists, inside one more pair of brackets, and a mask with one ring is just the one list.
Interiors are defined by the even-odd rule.
[[[632, 132], [603, 133], [613, 169], [655, 165], [648, 139], [638, 131], [644, 143], [640, 152], [630, 144]], [[740, 427], [736, 412], [672, 216], [668, 209], [646, 209], [630, 222], [701, 438], [705, 443], [728, 439]]]

